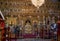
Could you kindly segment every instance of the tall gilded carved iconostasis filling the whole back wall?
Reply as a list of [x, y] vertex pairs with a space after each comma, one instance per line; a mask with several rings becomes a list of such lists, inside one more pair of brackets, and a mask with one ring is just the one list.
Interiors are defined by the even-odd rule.
[[[35, 0], [37, 1], [37, 0]], [[1, 0], [0, 10], [5, 17], [6, 27], [10, 27], [10, 38], [15, 34], [31, 34], [42, 38], [50, 37], [51, 24], [57, 22], [60, 11], [57, 10], [58, 2], [41, 0]], [[15, 29], [15, 30], [14, 30]], [[43, 33], [44, 32], [44, 33]], [[43, 33], [43, 34], [42, 34]], [[53, 33], [53, 32], [52, 32]], [[13, 36], [12, 36], [13, 35]], [[16, 37], [21, 37], [17, 36]], [[13, 37], [14, 38], [14, 37]]]

